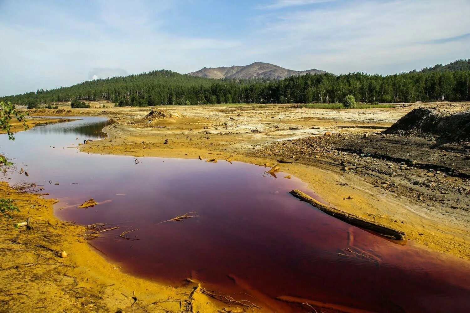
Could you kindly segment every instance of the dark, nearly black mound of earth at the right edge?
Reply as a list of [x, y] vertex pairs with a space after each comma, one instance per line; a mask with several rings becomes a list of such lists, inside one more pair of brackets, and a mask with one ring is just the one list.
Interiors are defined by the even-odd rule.
[[384, 134], [431, 134], [449, 140], [470, 140], [470, 111], [446, 115], [417, 108], [400, 118]]

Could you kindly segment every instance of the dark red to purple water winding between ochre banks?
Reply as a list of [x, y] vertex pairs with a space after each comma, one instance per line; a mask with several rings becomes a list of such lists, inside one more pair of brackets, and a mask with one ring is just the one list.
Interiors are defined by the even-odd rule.
[[[272, 299], [294, 296], [376, 312], [470, 308], [468, 261], [410, 241], [398, 244], [323, 214], [290, 196], [292, 189], [313, 191], [285, 173], [274, 178], [264, 167], [223, 160], [138, 158], [135, 164], [132, 157], [63, 149], [98, 137], [94, 131], [102, 122], [49, 125], [18, 133], [14, 144], [4, 137], [0, 143], [10, 157], [25, 161], [30, 180], [61, 199], [57, 208], [71, 206], [56, 211], [60, 218], [123, 227], [92, 244], [125, 272], [172, 285], [192, 277], [227, 293], [254, 289]], [[89, 198], [112, 201], [75, 207]], [[197, 217], [159, 224], [190, 211]], [[128, 236], [140, 240], [118, 237], [125, 229], [139, 229]], [[261, 305], [305, 312], [276, 300]]]

